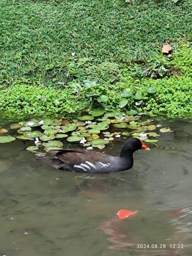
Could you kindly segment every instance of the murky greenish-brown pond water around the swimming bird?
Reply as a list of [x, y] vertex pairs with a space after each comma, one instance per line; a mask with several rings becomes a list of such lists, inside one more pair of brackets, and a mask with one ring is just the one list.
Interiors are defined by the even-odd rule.
[[[0, 256], [191, 256], [192, 122], [162, 122], [174, 132], [160, 147], [108, 175], [39, 163], [30, 141], [0, 144]], [[123, 140], [105, 153], [119, 154]], [[119, 209], [138, 213], [119, 220]]]

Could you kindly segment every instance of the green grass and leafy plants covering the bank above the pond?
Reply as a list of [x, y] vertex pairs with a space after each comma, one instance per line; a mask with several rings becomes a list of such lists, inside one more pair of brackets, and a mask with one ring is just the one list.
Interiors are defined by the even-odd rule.
[[192, 113], [191, 1], [0, 0], [0, 8], [1, 112]]

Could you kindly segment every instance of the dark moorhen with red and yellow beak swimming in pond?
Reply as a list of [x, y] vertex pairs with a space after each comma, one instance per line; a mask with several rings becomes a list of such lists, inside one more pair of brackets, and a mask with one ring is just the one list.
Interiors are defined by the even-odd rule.
[[133, 153], [138, 149], [150, 151], [147, 145], [137, 138], [125, 141], [119, 157], [79, 148], [50, 150], [56, 158], [37, 157], [56, 169], [71, 172], [111, 173], [131, 169]]

